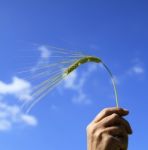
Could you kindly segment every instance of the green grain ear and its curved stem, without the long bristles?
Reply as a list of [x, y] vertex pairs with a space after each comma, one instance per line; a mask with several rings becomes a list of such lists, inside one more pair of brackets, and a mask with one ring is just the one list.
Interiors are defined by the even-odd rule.
[[116, 88], [116, 83], [113, 77], [112, 72], [110, 71], [110, 69], [107, 67], [107, 65], [98, 57], [94, 57], [94, 56], [85, 56], [82, 57], [81, 59], [75, 61], [70, 67], [68, 67], [65, 71], [64, 71], [64, 76], [69, 75], [71, 72], [73, 72], [75, 69], [77, 69], [80, 65], [87, 63], [87, 62], [94, 62], [94, 63], [101, 63], [104, 68], [106, 69], [106, 71], [109, 73], [110, 77], [111, 77], [111, 81], [113, 84], [113, 88], [114, 88], [114, 94], [115, 94], [115, 100], [116, 100], [116, 107], [119, 107], [119, 102], [118, 102], [118, 93], [117, 93], [117, 88]]

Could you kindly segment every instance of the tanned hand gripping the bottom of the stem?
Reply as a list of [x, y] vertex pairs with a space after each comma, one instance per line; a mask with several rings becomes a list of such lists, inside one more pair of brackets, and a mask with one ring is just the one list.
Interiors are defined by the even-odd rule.
[[132, 129], [123, 117], [128, 110], [105, 108], [87, 126], [87, 150], [127, 150]]

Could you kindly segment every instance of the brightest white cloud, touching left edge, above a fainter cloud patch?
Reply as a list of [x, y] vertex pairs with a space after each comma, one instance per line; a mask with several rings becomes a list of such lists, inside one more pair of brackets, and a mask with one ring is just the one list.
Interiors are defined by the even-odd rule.
[[0, 96], [13, 95], [19, 100], [31, 100], [31, 84], [18, 77], [12, 78], [12, 83], [0, 81]]

